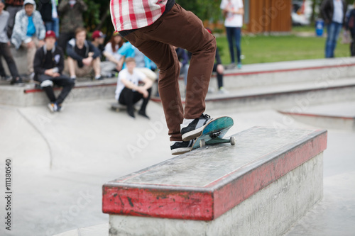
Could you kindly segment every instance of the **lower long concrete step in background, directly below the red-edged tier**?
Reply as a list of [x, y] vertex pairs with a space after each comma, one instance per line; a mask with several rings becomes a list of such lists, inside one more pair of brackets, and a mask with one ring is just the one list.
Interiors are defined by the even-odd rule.
[[[160, 98], [153, 98], [160, 102]], [[326, 80], [317, 83], [283, 84], [229, 91], [229, 94], [207, 94], [208, 109], [228, 108], [248, 111], [258, 108], [304, 108], [315, 104], [355, 101], [355, 79]], [[185, 99], [182, 99], [185, 103]]]

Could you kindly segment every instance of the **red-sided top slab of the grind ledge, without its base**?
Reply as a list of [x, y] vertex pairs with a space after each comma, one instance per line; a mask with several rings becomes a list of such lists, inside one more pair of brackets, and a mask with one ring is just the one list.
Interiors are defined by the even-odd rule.
[[103, 186], [111, 215], [214, 220], [323, 152], [326, 130], [254, 127], [236, 145], [217, 145], [168, 159]]

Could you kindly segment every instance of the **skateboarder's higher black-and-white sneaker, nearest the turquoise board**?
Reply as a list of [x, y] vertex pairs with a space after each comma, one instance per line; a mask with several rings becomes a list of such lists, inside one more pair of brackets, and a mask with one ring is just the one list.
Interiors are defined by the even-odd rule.
[[182, 140], [189, 141], [193, 140], [195, 137], [199, 137], [204, 127], [212, 120], [213, 119], [210, 116], [204, 114], [195, 120], [184, 119], [180, 125]]

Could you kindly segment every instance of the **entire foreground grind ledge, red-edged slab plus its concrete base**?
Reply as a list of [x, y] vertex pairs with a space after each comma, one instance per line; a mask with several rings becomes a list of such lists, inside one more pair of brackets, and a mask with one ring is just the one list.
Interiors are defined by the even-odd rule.
[[[110, 235], [282, 235], [322, 198], [324, 130], [255, 127], [104, 184]], [[261, 233], [262, 232], [262, 233]]]

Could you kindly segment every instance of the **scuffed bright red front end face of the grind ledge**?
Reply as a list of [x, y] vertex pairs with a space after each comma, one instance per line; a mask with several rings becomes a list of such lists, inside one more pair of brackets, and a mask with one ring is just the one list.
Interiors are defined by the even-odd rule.
[[104, 186], [103, 192], [104, 213], [189, 220], [213, 218], [213, 198], [209, 192], [110, 186]]

